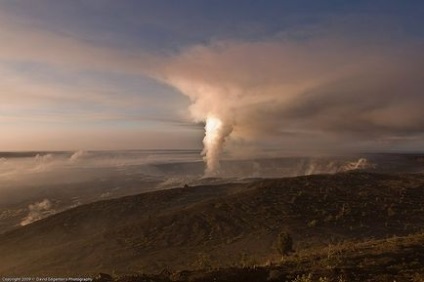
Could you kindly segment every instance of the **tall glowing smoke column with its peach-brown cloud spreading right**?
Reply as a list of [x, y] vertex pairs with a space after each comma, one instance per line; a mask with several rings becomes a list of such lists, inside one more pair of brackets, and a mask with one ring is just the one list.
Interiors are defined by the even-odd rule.
[[211, 174], [224, 143], [279, 144], [300, 152], [363, 150], [421, 134], [419, 47], [337, 36], [217, 42], [183, 50], [160, 79], [191, 99], [194, 122], [206, 123]]

